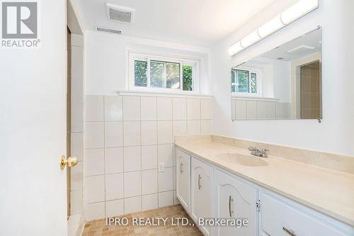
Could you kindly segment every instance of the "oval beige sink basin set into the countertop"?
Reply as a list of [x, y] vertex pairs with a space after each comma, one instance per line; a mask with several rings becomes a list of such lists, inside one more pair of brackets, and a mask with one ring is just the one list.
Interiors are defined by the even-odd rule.
[[265, 167], [268, 166], [268, 162], [260, 159], [260, 157], [247, 156], [238, 153], [222, 153], [217, 155], [217, 159], [222, 159], [227, 162], [236, 162], [246, 167]]

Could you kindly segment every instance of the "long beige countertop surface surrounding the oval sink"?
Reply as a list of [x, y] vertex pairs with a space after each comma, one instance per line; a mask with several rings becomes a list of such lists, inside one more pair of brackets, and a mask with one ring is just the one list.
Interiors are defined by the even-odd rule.
[[[207, 138], [176, 138], [175, 145], [232, 174], [354, 226], [354, 175], [269, 156], [263, 167], [247, 167], [217, 157], [249, 150], [211, 142]], [[253, 157], [253, 156], [252, 156]]]

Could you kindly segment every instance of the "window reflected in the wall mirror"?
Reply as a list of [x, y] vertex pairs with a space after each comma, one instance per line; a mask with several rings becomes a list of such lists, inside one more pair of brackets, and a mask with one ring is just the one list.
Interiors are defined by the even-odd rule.
[[261, 69], [239, 67], [231, 70], [231, 91], [233, 94], [261, 96]]

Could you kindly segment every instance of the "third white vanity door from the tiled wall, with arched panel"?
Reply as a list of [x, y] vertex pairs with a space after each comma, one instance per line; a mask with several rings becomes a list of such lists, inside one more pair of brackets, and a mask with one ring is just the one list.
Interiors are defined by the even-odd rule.
[[256, 235], [257, 190], [236, 178], [215, 171], [215, 217], [224, 219], [247, 219], [248, 226], [221, 226], [215, 235]]

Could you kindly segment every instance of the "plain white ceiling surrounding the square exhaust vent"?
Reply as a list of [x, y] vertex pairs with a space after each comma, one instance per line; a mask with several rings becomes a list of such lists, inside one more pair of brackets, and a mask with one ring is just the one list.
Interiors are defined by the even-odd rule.
[[[104, 26], [124, 35], [210, 46], [274, 0], [79, 0], [85, 28]], [[109, 21], [105, 3], [135, 9], [132, 24]]]

